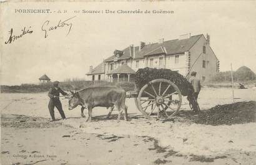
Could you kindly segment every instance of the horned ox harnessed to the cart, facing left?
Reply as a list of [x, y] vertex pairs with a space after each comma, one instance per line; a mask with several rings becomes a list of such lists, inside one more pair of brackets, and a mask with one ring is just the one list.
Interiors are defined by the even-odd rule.
[[84, 109], [88, 109], [86, 121], [91, 121], [92, 108], [97, 106], [111, 107], [109, 115], [111, 115], [114, 106], [116, 106], [119, 111], [117, 120], [120, 120], [123, 110], [125, 111], [124, 119], [127, 120], [127, 106], [125, 103], [126, 91], [117, 87], [92, 87], [79, 92], [71, 92], [71, 95], [69, 95], [69, 110], [76, 108], [77, 105], [81, 105], [81, 116], [85, 117]]

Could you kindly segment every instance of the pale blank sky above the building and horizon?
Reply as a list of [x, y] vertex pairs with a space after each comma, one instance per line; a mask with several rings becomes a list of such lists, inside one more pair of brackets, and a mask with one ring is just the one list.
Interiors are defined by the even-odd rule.
[[[2, 3], [1, 85], [38, 83], [46, 74], [54, 80], [86, 78], [89, 66], [96, 67], [114, 50], [159, 42], [179, 35], [209, 34], [210, 46], [220, 60], [220, 71], [245, 65], [256, 73], [256, 1], [165, 1], [165, 2], [6, 2]], [[51, 9], [51, 14], [17, 13], [15, 9]], [[174, 14], [84, 14], [74, 11], [166, 10]], [[56, 13], [67, 10], [66, 13]], [[53, 12], [56, 11], [56, 12]], [[76, 17], [74, 17], [76, 16]], [[49, 31], [42, 24], [69, 27]], [[24, 27], [32, 34], [4, 44]]]

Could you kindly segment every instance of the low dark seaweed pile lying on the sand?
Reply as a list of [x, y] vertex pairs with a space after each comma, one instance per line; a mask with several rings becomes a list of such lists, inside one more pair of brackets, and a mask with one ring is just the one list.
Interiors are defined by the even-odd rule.
[[203, 125], [234, 125], [256, 122], [256, 101], [217, 105], [201, 111], [195, 123]]

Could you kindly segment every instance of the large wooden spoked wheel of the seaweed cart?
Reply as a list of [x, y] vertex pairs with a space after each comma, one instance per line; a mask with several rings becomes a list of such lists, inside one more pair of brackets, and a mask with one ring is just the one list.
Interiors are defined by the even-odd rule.
[[182, 97], [179, 88], [165, 79], [155, 79], [140, 89], [137, 105], [145, 118], [154, 111], [166, 117], [174, 116], [180, 109]]

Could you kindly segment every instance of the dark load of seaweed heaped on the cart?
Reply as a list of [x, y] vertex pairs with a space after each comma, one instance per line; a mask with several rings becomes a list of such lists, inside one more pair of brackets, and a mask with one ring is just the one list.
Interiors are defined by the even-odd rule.
[[187, 99], [190, 102], [190, 105], [193, 106], [194, 110], [198, 110], [197, 107], [194, 107], [194, 88], [187, 81], [187, 79], [180, 75], [180, 73], [172, 71], [170, 69], [165, 68], [140, 68], [137, 70], [135, 74], [135, 84], [136, 88], [139, 91], [145, 84], [149, 83], [151, 80], [155, 80], [158, 78], [163, 78], [166, 80], [170, 80], [170, 82], [175, 83], [180, 90], [180, 93], [183, 96], [187, 96]]

